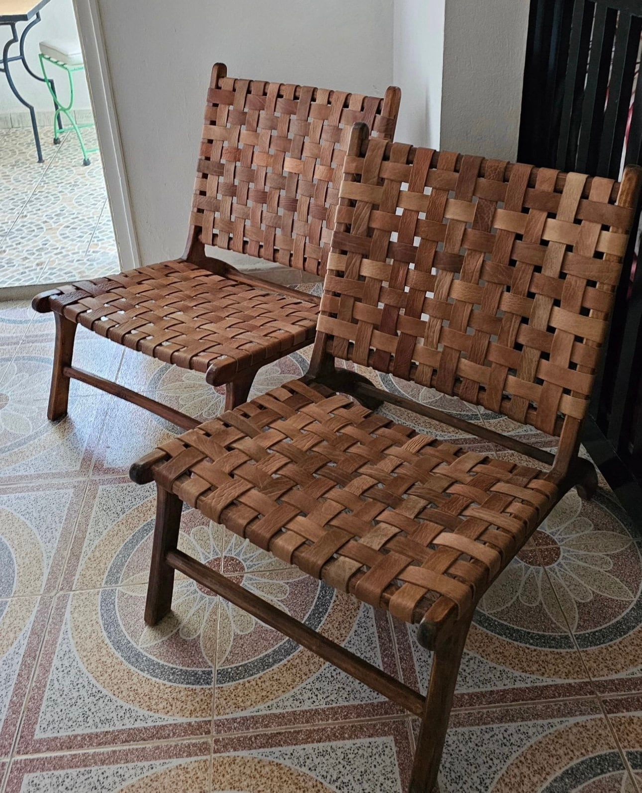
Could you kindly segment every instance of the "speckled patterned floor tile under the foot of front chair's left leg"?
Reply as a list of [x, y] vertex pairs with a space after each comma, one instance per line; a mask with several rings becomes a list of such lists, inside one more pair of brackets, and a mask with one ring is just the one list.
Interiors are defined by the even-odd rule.
[[210, 734], [212, 633], [201, 633], [204, 607], [181, 596], [185, 583], [154, 628], [141, 585], [56, 596], [17, 754]]

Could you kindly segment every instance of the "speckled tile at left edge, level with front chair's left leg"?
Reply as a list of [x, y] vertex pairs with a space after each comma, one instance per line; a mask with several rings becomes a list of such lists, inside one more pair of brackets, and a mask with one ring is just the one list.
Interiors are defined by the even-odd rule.
[[0, 597], [56, 592], [85, 481], [0, 488]]

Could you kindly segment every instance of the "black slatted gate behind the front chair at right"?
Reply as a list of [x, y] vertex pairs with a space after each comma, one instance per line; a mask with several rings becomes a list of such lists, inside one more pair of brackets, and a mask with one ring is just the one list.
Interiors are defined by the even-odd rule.
[[[518, 159], [617, 179], [642, 164], [642, 0], [531, 0]], [[585, 443], [640, 521], [642, 261], [632, 244]]]

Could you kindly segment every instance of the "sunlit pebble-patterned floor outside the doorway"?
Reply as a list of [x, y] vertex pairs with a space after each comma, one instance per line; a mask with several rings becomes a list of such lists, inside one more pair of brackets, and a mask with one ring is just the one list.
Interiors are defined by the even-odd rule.
[[[0, 129], [0, 287], [51, 284], [117, 273], [118, 255], [100, 154], [83, 155], [73, 134], [54, 146], [41, 131]], [[85, 130], [88, 147], [94, 129]]]

